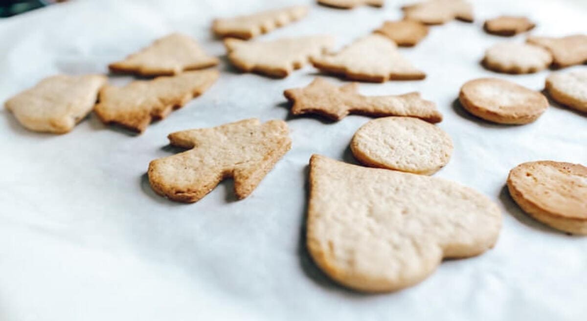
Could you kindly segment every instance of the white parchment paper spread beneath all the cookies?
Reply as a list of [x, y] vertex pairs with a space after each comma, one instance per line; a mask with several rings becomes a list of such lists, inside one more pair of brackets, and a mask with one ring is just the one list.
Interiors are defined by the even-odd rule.
[[[207, 93], [140, 136], [104, 126], [95, 115], [67, 135], [37, 134], [0, 112], [1, 320], [585, 319], [587, 238], [532, 221], [504, 184], [525, 161], [587, 164], [587, 117], [552, 103], [532, 124], [502, 126], [455, 103], [471, 78], [498, 76], [541, 90], [550, 72], [484, 70], [484, 50], [504, 41], [483, 32], [484, 19], [522, 14], [538, 23], [535, 35], [585, 33], [584, 7], [474, 1], [475, 23], [431, 28], [417, 47], [402, 49], [426, 80], [360, 85], [363, 94], [420, 91], [436, 101], [444, 114], [438, 126], [455, 145], [436, 176], [487, 194], [504, 215], [500, 239], [486, 254], [444, 262], [413, 288], [363, 295], [312, 264], [303, 218], [309, 157], [354, 162], [349, 140], [369, 118], [290, 117], [282, 91], [305, 86], [316, 70], [306, 66], [283, 80], [240, 74], [210, 34], [212, 18], [303, 2], [71, 1], [0, 21], [0, 101], [55, 73], [105, 73], [107, 63], [174, 31], [194, 36], [223, 60]], [[259, 39], [329, 33], [343, 46], [384, 19], [400, 18], [403, 3], [353, 11], [312, 4], [301, 22]], [[116, 84], [130, 80], [110, 77]], [[168, 133], [251, 117], [286, 119], [293, 148], [247, 199], [235, 200], [230, 181], [195, 204], [170, 202], [150, 189], [148, 163], [177, 151], [167, 146]]]

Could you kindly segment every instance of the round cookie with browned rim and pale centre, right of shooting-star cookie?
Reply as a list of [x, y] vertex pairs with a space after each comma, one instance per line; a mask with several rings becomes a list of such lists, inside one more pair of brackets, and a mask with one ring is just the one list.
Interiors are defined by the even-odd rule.
[[548, 100], [538, 91], [498, 78], [467, 81], [458, 100], [471, 114], [498, 124], [528, 124], [548, 107]]

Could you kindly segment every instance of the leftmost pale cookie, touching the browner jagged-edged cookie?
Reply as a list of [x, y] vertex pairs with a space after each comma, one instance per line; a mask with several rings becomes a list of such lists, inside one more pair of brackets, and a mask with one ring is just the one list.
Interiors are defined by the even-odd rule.
[[105, 83], [102, 75], [52, 76], [10, 98], [5, 105], [31, 131], [65, 134], [92, 111]]

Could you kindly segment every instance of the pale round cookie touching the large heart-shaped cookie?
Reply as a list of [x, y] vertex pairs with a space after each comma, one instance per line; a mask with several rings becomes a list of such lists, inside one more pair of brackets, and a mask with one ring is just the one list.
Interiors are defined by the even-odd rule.
[[359, 128], [350, 149], [367, 166], [431, 175], [448, 163], [453, 142], [421, 119], [384, 117]]

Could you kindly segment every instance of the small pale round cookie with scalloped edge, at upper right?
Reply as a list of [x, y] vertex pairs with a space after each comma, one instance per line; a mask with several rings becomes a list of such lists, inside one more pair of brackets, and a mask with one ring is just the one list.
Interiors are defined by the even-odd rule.
[[483, 65], [498, 73], [526, 74], [546, 69], [552, 55], [542, 47], [527, 43], [502, 42], [485, 51]]

